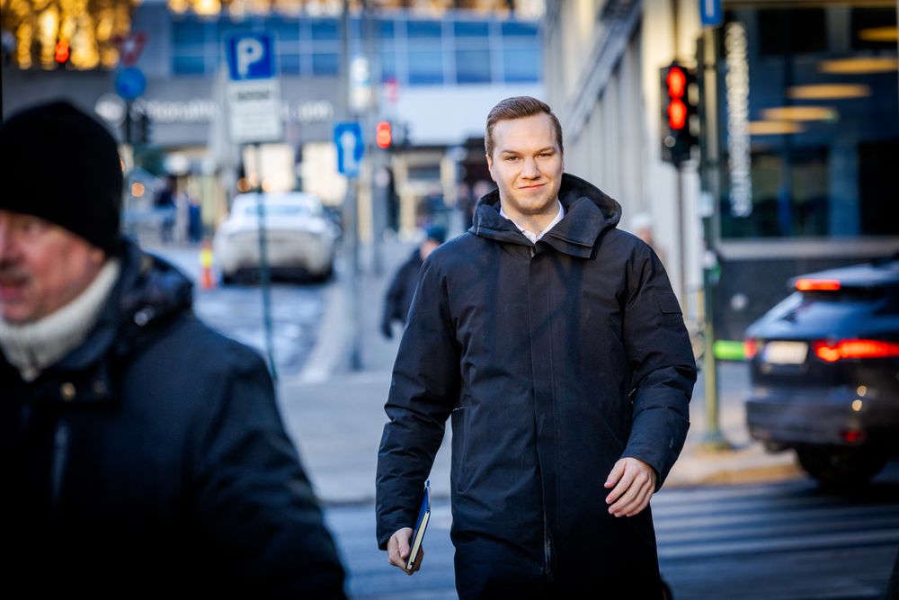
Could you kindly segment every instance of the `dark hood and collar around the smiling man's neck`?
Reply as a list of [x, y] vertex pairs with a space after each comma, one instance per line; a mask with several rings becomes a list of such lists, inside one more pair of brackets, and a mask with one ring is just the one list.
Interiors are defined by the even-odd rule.
[[[565, 207], [565, 217], [540, 241], [567, 255], [590, 256], [601, 232], [614, 228], [621, 219], [621, 205], [617, 201], [574, 175], [562, 175], [559, 201]], [[500, 194], [494, 190], [477, 201], [473, 224], [468, 230], [478, 237], [532, 246], [511, 220], [500, 216], [499, 210]]]

